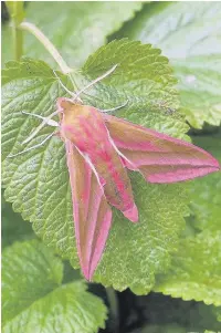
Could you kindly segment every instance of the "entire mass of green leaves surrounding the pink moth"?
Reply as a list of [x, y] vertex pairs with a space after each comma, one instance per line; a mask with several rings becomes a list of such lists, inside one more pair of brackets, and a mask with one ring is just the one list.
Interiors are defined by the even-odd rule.
[[[220, 3], [30, 2], [25, 18], [75, 69], [78, 86], [118, 63], [83, 96], [85, 103], [109, 108], [128, 100], [117, 116], [192, 139], [221, 162]], [[24, 33], [25, 59], [14, 61], [10, 29], [2, 25], [2, 180], [17, 214], [3, 199], [3, 332], [51, 333], [55, 326], [97, 332], [105, 327], [106, 305], [62, 261], [78, 268], [63, 144], [52, 138], [7, 158], [24, 149], [21, 143], [39, 124], [21, 111], [49, 115], [66, 95], [53, 74], [56, 64], [30, 33]], [[73, 90], [69, 77], [57, 74]], [[140, 222], [134, 226], [114, 211], [94, 281], [136, 294], [155, 292], [143, 299], [143, 311], [150, 314], [140, 332], [221, 331], [220, 173], [175, 185], [130, 177]], [[171, 298], [158, 299], [159, 292]]]

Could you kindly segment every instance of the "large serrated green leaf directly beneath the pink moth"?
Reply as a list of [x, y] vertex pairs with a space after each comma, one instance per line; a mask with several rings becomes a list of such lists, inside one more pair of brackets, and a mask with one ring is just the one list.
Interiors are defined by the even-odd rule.
[[[135, 61], [136, 60], [136, 61]], [[83, 81], [92, 80], [118, 63], [116, 71], [82, 96], [85, 103], [99, 108], [122, 105], [118, 116], [156, 128], [162, 133], [185, 137], [188, 129], [176, 112], [178, 106], [175, 79], [166, 58], [150, 45], [127, 40], [101, 48], [82, 69]], [[65, 83], [67, 79], [61, 76]], [[6, 198], [45, 243], [78, 267], [73, 231], [72, 201], [64, 146], [53, 137], [44, 146], [14, 158], [6, 158], [33, 146], [51, 133], [44, 128], [25, 147], [21, 143], [39, 121], [21, 111], [49, 115], [55, 101], [64, 95], [53, 72], [43, 62], [9, 63], [3, 72], [2, 153]], [[69, 85], [69, 87], [71, 87]], [[88, 102], [90, 101], [90, 102]], [[165, 108], [159, 101], [165, 101]], [[172, 112], [171, 112], [172, 110]], [[136, 293], [148, 292], [155, 274], [164, 272], [176, 250], [188, 214], [186, 184], [146, 184], [139, 174], [131, 173], [139, 223], [134, 225], [114, 210], [113, 228], [94, 281], [130, 288]], [[157, 209], [156, 209], [157, 207]]]

